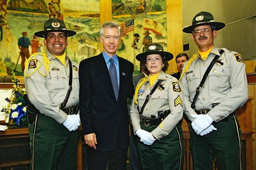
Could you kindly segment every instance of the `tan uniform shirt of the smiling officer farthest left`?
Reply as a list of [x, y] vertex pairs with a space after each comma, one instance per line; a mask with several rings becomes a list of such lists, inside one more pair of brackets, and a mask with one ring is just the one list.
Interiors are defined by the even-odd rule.
[[[69, 88], [69, 74], [70, 69], [68, 65], [68, 57], [66, 56], [65, 66], [49, 51], [46, 51], [47, 58], [49, 60], [49, 71], [46, 71], [45, 63], [42, 63], [43, 56], [41, 53], [36, 55], [36, 63], [41, 67], [39, 71], [47, 76], [43, 76], [38, 70], [35, 71], [35, 57], [31, 57], [24, 73], [27, 75], [35, 71], [31, 76], [24, 76], [25, 88], [28, 94], [29, 100], [35, 105], [40, 113], [55, 119], [58, 123], [63, 123], [67, 119], [67, 114], [61, 111], [59, 106], [64, 101], [68, 88]], [[67, 107], [75, 106], [79, 104], [79, 77], [78, 68], [79, 65], [76, 62], [72, 62], [73, 69], [73, 90], [70, 93]], [[24, 74], [24, 75], [26, 75]]]

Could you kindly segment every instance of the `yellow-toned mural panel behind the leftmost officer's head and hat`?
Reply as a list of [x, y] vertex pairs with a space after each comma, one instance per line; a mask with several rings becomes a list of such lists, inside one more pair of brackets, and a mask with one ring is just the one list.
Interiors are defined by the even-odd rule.
[[36, 51], [46, 50], [44, 39], [33, 38], [33, 34], [43, 30], [44, 22], [52, 17], [64, 20], [67, 28], [77, 33], [68, 38], [70, 58], [80, 62], [99, 54], [99, 0], [0, 0], [0, 76], [10, 74], [11, 68], [22, 75], [17, 45], [22, 32], [27, 32]]

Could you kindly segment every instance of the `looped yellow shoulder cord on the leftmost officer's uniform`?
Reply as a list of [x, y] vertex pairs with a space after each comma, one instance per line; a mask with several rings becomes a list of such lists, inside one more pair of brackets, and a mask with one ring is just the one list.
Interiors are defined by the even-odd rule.
[[[48, 74], [48, 71], [49, 71], [49, 68], [50, 68], [50, 61], [49, 61], [49, 59], [47, 58], [47, 54], [46, 54], [46, 52], [44, 51], [44, 52], [42, 52], [42, 56], [43, 56], [43, 60], [42, 60], [42, 62], [40, 63], [40, 65], [37, 65], [37, 62], [36, 62], [36, 55], [37, 54], [39, 54], [39, 53], [34, 53], [34, 54], [32, 54], [30, 57], [29, 57], [29, 59], [27, 59], [27, 61], [26, 61], [26, 64], [25, 64], [25, 77], [29, 77], [29, 76], [31, 76], [33, 73], [35, 73], [35, 71], [37, 71], [38, 70], [38, 72], [42, 75], [42, 76], [44, 76], [44, 77], [46, 77], [47, 76], [47, 74]], [[36, 66], [36, 69], [34, 70], [34, 71], [32, 71], [32, 73], [30, 73], [29, 75], [27, 75], [27, 65], [28, 65], [28, 63], [29, 63], [29, 61], [30, 61], [30, 59], [32, 58], [32, 57], [34, 57], [35, 58], [35, 66]], [[46, 74], [42, 74], [42, 72], [39, 70], [39, 68], [41, 67], [41, 65], [44, 63], [44, 68], [45, 68], [45, 70], [46, 70]]]

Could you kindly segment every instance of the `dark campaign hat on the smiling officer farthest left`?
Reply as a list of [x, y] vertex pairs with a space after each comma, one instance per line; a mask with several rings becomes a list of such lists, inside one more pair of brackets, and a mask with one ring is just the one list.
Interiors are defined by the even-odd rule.
[[71, 37], [76, 35], [75, 31], [67, 30], [64, 21], [59, 20], [57, 18], [50, 18], [44, 23], [44, 31], [35, 32], [35, 36], [46, 38], [44, 37], [45, 34], [49, 32], [64, 32], [66, 37]]

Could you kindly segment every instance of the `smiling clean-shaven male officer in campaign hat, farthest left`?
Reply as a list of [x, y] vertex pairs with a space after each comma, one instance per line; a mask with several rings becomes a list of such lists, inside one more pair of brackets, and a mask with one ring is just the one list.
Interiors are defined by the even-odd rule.
[[[56, 18], [47, 20], [44, 31], [35, 33], [45, 38], [47, 51], [33, 54], [24, 71], [29, 100], [40, 112], [33, 124], [29, 124], [31, 170], [76, 169], [79, 66], [65, 54], [67, 37], [75, 34]], [[69, 88], [66, 106], [60, 108]]]

